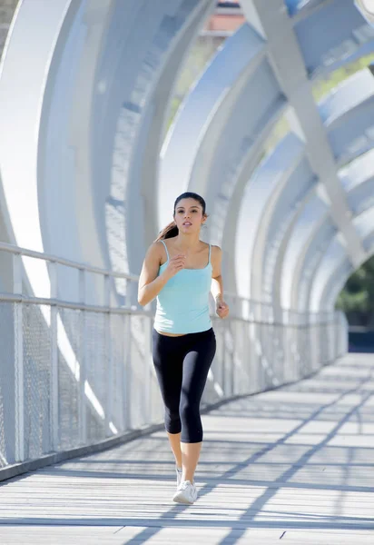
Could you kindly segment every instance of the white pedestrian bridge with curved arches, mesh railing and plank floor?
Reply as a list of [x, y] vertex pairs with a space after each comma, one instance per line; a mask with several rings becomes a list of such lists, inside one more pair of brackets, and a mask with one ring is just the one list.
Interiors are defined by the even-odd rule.
[[[362, 0], [241, 0], [182, 100], [226, 4], [3, 0], [2, 544], [374, 541], [373, 362], [335, 311], [374, 254], [374, 28]], [[231, 308], [192, 508], [136, 300], [186, 190]]]

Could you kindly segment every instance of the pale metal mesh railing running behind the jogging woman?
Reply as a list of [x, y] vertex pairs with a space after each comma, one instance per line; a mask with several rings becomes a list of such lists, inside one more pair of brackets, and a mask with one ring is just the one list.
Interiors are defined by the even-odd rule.
[[[14, 254], [15, 277], [14, 293], [0, 294], [0, 468], [161, 422], [153, 313], [130, 300], [121, 308], [109, 304], [112, 275], [131, 293], [137, 278], [3, 243], [0, 251]], [[48, 263], [52, 295], [56, 267], [75, 269], [79, 285], [72, 292], [80, 302], [22, 295], [20, 256]], [[98, 299], [106, 306], [83, 302], [88, 273], [103, 276]], [[347, 351], [341, 314], [281, 311], [276, 318], [271, 305], [234, 295], [228, 302], [229, 319], [212, 317], [217, 354], [206, 405], [297, 381]]]

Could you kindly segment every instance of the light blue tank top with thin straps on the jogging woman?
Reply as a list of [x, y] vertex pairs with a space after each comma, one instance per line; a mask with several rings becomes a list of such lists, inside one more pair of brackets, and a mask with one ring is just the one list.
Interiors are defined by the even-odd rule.
[[[169, 252], [165, 247], [167, 261], [162, 263], [159, 275], [169, 263]], [[182, 269], [163, 286], [157, 296], [154, 329], [168, 333], [206, 332], [212, 327], [209, 314], [209, 293], [212, 283], [211, 244], [209, 260], [203, 269]]]

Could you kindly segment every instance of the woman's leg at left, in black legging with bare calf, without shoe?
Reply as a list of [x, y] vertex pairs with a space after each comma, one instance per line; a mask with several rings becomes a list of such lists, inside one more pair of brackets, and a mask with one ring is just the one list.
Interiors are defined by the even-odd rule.
[[165, 407], [165, 429], [178, 468], [182, 468], [181, 419], [182, 356], [178, 337], [153, 330], [153, 363]]

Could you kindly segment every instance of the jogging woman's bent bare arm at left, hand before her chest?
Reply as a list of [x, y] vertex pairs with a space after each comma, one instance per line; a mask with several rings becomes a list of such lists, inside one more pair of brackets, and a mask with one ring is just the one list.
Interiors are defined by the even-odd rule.
[[139, 278], [138, 302], [145, 306], [153, 301], [161, 292], [163, 286], [174, 274], [184, 267], [185, 256], [176, 255], [166, 269], [158, 276], [161, 263], [161, 244], [153, 243], [145, 255], [142, 272]]

